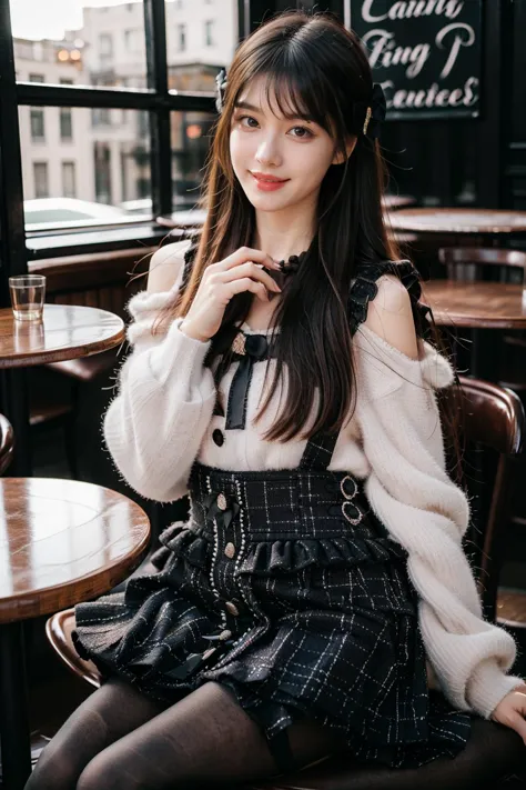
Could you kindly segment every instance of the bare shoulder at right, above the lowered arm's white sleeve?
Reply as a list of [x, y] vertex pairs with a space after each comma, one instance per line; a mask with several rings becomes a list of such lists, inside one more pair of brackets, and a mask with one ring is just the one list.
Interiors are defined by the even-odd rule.
[[418, 343], [406, 287], [395, 274], [377, 281], [378, 292], [368, 303], [365, 326], [398, 351], [418, 358]]

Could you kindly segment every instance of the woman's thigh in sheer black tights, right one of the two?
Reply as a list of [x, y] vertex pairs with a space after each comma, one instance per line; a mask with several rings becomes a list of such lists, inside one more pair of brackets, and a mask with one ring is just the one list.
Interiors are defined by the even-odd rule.
[[[334, 744], [314, 722], [289, 728], [294, 767]], [[231, 788], [280, 773], [260, 726], [220, 683], [210, 682], [95, 757], [77, 790]]]

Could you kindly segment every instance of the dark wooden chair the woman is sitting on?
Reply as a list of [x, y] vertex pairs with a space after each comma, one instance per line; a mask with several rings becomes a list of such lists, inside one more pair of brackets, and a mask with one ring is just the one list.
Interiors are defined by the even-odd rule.
[[[479, 586], [484, 608], [495, 612], [502, 532], [506, 527], [512, 486], [512, 459], [519, 452], [524, 432], [524, 409], [514, 392], [475, 379], [461, 379], [463, 430], [469, 442], [490, 447], [498, 453], [489, 518], [483, 534], [487, 554]], [[457, 398], [455, 393], [449, 397]], [[47, 623], [48, 638], [60, 658], [92, 686], [100, 684], [97, 668], [81, 661], [71, 642], [73, 610], [53, 614]], [[348, 754], [332, 756], [277, 781], [252, 784], [250, 790], [481, 790], [494, 787], [524, 769], [526, 750], [514, 731], [474, 718], [468, 746], [455, 760], [439, 759], [418, 769], [393, 769], [353, 763]], [[246, 788], [249, 790], [249, 788]]]

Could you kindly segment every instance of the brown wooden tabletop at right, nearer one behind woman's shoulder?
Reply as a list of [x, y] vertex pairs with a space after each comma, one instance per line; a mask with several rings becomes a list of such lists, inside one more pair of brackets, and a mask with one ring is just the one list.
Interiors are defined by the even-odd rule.
[[522, 284], [429, 280], [423, 287], [423, 301], [442, 326], [526, 329]]

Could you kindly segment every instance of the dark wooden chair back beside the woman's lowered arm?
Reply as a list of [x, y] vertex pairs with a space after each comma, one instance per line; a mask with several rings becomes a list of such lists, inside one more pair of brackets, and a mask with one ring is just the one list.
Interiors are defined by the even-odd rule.
[[[468, 534], [477, 549], [478, 588], [485, 617], [496, 618], [498, 577], [503, 561], [503, 548], [510, 520], [512, 492], [515, 479], [516, 457], [523, 449], [525, 412], [518, 396], [512, 390], [489, 381], [459, 377], [461, 390], [451, 390], [454, 408], [459, 410], [459, 429], [466, 444], [490, 448], [497, 453], [493, 480], [477, 470], [481, 493], [490, 484], [488, 507], [482, 513], [482, 523], [476, 532]], [[495, 467], [494, 467], [495, 469]]]

